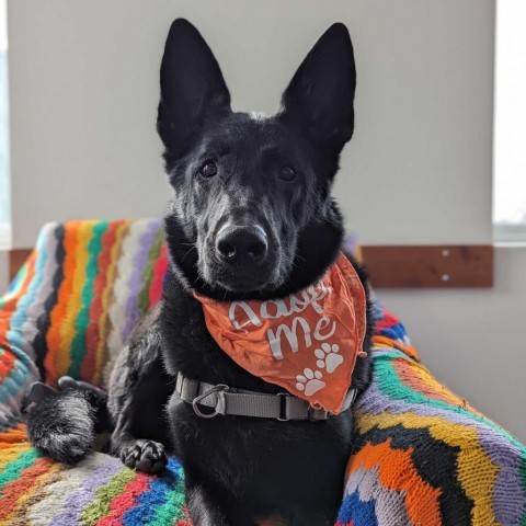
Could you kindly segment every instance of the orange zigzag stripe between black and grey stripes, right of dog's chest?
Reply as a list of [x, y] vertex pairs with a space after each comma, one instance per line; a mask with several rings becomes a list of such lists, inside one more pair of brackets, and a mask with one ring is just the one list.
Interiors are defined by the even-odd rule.
[[413, 448], [392, 449], [390, 439], [382, 444], [366, 444], [351, 460], [347, 478], [361, 466], [378, 469], [381, 484], [392, 491], [405, 493], [405, 507], [413, 524], [441, 526], [442, 515], [438, 499], [442, 491], [422, 480], [413, 465]]

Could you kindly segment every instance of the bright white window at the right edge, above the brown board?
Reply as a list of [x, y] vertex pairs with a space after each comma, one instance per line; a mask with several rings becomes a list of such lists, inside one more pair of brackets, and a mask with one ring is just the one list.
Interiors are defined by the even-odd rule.
[[496, 4], [493, 225], [498, 241], [526, 242], [526, 2]]

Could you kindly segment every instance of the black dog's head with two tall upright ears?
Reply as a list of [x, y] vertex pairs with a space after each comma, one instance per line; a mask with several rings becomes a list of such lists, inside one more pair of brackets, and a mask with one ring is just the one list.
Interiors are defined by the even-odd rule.
[[354, 128], [354, 57], [332, 25], [272, 117], [233, 113], [214, 55], [176, 20], [161, 66], [158, 132], [175, 198], [167, 216], [173, 266], [217, 299], [268, 298], [313, 283], [343, 236], [331, 196]]

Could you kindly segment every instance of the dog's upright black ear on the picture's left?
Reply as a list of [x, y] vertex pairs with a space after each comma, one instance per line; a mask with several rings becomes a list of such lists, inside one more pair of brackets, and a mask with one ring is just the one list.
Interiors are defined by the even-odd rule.
[[170, 153], [184, 151], [208, 118], [230, 111], [230, 93], [201, 33], [186, 20], [172, 23], [161, 64], [158, 133]]

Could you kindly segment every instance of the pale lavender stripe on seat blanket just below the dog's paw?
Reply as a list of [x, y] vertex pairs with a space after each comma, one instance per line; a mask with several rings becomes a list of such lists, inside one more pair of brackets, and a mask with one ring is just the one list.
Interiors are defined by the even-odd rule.
[[62, 512], [53, 519], [53, 526], [80, 524], [80, 514], [83, 507], [90, 504], [95, 498], [96, 491], [123, 468], [124, 466], [119, 460], [106, 457], [102, 466], [95, 468], [91, 473], [84, 473], [84, 483], [68, 496], [64, 503]]

